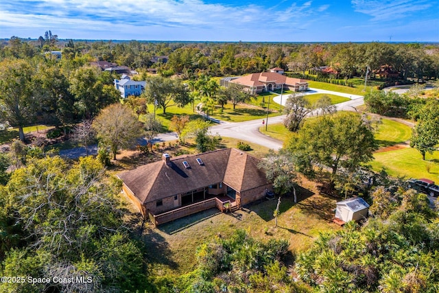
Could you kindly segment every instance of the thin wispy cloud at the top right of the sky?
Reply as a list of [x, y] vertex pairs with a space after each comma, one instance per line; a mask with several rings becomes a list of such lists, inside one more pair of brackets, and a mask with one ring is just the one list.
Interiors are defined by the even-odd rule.
[[427, 0], [352, 0], [351, 3], [355, 12], [373, 16], [373, 21], [400, 19], [431, 7], [431, 1]]

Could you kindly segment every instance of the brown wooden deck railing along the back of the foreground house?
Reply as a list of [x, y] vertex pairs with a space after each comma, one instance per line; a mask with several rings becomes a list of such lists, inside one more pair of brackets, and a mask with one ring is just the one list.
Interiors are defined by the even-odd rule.
[[203, 200], [202, 202], [189, 204], [186, 207], [180, 207], [178, 209], [173, 209], [172, 211], [167, 211], [166, 213], [161, 213], [158, 215], [153, 215], [152, 213], [150, 213], [150, 220], [155, 225], [160, 225], [185, 217], [187, 215], [192, 215], [193, 213], [205, 211], [206, 209], [212, 209], [213, 207], [216, 207], [217, 209], [219, 209], [219, 211], [224, 212], [226, 211], [226, 203], [228, 203], [228, 207], [230, 209], [230, 200], [222, 202], [218, 198], [211, 198], [209, 200]]

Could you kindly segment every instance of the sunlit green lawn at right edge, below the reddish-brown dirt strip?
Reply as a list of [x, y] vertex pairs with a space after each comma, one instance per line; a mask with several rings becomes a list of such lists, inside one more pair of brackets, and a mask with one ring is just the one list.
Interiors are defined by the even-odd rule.
[[[420, 153], [414, 148], [378, 152], [374, 157], [375, 160], [370, 165], [377, 172], [385, 169], [391, 176], [429, 178], [439, 182], [439, 152], [427, 154], [426, 161], [423, 161]], [[427, 167], [430, 167], [430, 172], [427, 172]]]

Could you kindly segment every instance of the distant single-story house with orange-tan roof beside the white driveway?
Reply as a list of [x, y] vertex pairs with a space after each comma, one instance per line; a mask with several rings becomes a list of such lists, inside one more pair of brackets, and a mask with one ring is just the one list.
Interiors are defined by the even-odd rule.
[[[287, 78], [285, 75], [276, 72], [252, 73], [241, 78], [228, 78], [227, 85], [230, 83], [241, 84], [250, 93], [262, 93], [264, 91], [274, 91], [284, 89], [290, 91], [307, 91], [308, 82], [300, 78]], [[225, 84], [225, 83], [224, 83]]]

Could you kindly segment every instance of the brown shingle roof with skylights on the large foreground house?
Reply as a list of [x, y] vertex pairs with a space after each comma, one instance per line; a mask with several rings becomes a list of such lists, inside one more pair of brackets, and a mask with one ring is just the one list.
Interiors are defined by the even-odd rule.
[[[196, 159], [202, 159], [199, 165]], [[190, 168], [185, 168], [187, 161]], [[142, 203], [182, 194], [193, 189], [224, 182], [237, 191], [268, 184], [258, 169], [259, 160], [236, 149], [222, 149], [202, 154], [178, 156], [170, 165], [158, 161], [119, 174]]]

